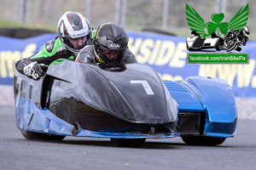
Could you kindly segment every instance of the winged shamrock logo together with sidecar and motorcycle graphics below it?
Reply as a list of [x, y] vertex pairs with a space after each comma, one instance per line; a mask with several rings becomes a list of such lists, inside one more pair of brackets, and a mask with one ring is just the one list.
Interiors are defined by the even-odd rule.
[[212, 21], [206, 23], [195, 8], [186, 4], [186, 19], [191, 30], [191, 36], [187, 37], [186, 41], [187, 49], [201, 51], [201, 49], [215, 48], [217, 51], [241, 51], [241, 44], [246, 45], [250, 34], [250, 28], [247, 26], [248, 9], [247, 3], [230, 22], [223, 22], [224, 14], [220, 13], [212, 14]]

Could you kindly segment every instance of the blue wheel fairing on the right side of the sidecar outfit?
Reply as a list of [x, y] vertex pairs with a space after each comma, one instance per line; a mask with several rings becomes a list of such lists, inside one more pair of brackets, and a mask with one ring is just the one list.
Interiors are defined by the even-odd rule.
[[188, 77], [181, 82], [164, 81], [179, 112], [205, 112], [204, 134], [228, 138], [236, 134], [236, 101], [223, 79]]

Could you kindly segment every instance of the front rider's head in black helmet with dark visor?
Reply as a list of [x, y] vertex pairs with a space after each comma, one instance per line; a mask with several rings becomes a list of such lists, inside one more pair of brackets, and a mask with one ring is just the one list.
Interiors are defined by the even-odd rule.
[[98, 26], [93, 38], [96, 59], [100, 63], [120, 62], [127, 43], [128, 37], [122, 26], [112, 23]]

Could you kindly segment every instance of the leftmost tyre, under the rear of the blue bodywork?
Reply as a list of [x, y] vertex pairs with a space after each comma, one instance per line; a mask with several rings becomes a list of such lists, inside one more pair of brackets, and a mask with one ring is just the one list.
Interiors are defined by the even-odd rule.
[[66, 136], [62, 135], [55, 135], [55, 134], [49, 134], [49, 133], [34, 133], [34, 132], [29, 132], [29, 131], [20, 131], [21, 134], [24, 136], [26, 139], [30, 140], [62, 140]]

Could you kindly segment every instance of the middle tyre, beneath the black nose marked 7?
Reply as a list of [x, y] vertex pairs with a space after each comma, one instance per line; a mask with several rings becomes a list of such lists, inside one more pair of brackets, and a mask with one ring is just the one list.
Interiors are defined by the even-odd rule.
[[111, 139], [111, 142], [119, 147], [141, 147], [146, 139]]

